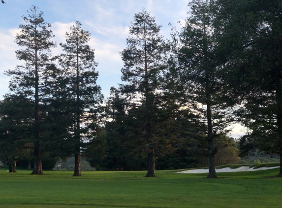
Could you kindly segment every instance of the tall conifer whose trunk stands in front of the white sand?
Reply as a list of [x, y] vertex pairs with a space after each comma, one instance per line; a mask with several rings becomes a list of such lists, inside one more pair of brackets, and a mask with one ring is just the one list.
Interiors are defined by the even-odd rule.
[[192, 0], [188, 5], [190, 17], [182, 31], [173, 36], [177, 47], [172, 73], [179, 77], [178, 83], [183, 88], [181, 102], [198, 115], [197, 122], [204, 125], [201, 134], [207, 135], [208, 178], [216, 178], [214, 139], [226, 134], [226, 127], [234, 121], [231, 114], [234, 100], [226, 91], [227, 84], [222, 76], [212, 1]]

